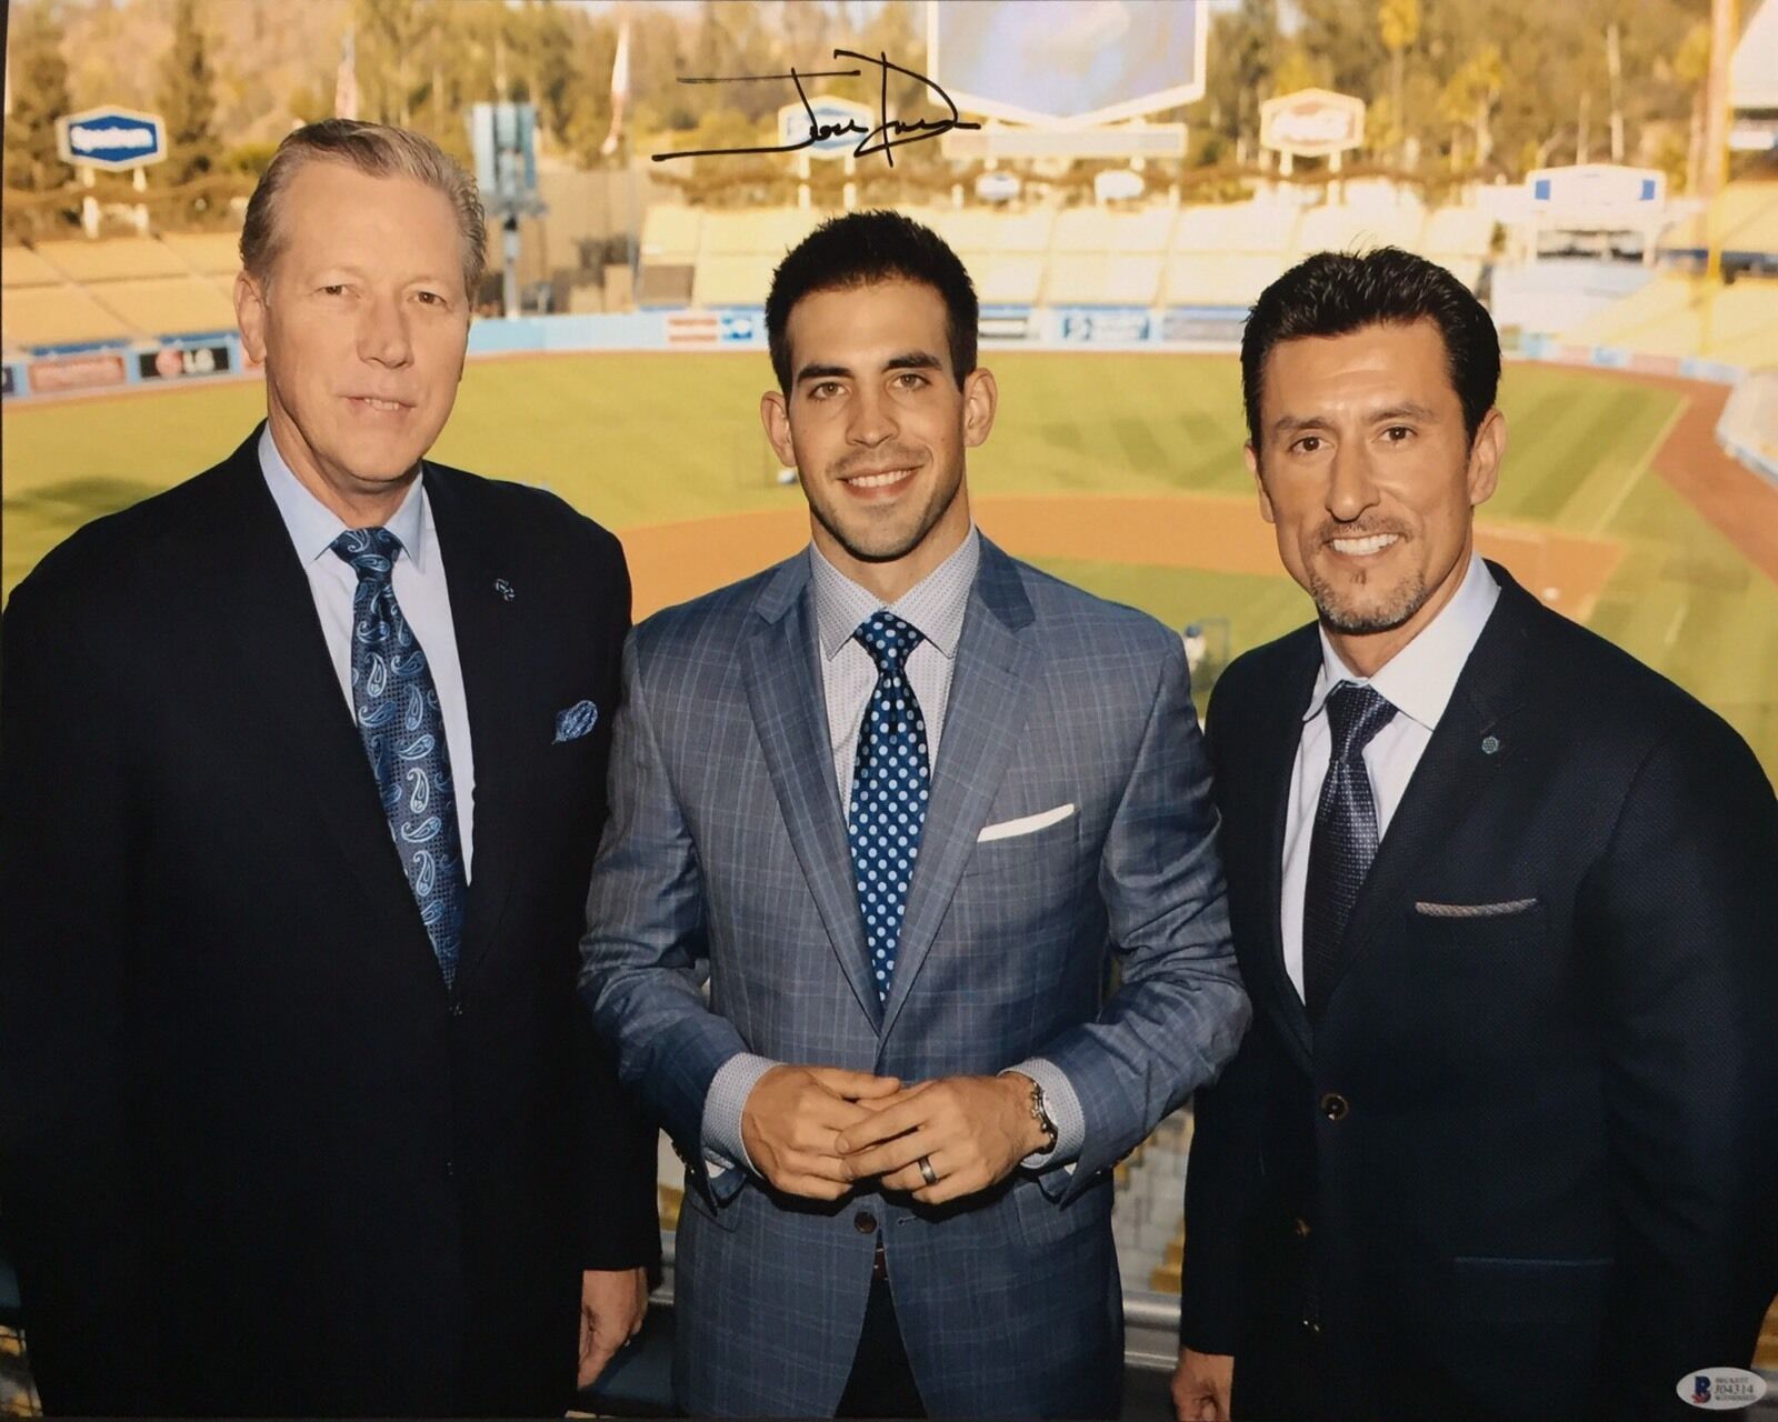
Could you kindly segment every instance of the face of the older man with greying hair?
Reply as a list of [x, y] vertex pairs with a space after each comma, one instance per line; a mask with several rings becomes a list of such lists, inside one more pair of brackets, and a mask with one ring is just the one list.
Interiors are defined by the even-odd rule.
[[279, 196], [263, 284], [235, 283], [267, 418], [299, 480], [348, 526], [400, 505], [457, 398], [469, 302], [450, 199], [416, 178], [304, 164]]

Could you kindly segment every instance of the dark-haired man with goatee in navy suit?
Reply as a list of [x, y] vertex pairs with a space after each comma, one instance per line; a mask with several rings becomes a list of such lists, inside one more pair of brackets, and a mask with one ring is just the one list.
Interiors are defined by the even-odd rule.
[[1686, 1413], [1774, 1285], [1771, 786], [1476, 556], [1501, 352], [1449, 272], [1312, 256], [1241, 375], [1319, 622], [1207, 716], [1255, 1017], [1197, 1104], [1179, 1417]]

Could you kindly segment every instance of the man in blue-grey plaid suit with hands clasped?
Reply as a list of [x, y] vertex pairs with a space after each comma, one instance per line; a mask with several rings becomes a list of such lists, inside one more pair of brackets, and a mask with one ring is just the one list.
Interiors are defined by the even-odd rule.
[[583, 942], [686, 1159], [674, 1388], [1113, 1417], [1111, 1166], [1248, 1020], [1184, 651], [976, 531], [933, 233], [827, 222], [766, 325], [813, 546], [631, 638]]

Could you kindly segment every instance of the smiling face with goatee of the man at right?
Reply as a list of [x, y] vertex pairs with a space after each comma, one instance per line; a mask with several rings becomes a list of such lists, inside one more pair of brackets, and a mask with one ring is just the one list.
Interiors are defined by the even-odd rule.
[[1259, 508], [1353, 670], [1371, 675], [1463, 581], [1506, 421], [1470, 441], [1431, 320], [1280, 341], [1246, 448]]

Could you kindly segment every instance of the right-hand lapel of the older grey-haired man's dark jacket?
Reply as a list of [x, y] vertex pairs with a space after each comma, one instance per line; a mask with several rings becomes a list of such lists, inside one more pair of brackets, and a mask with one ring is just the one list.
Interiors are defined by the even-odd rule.
[[475, 860], [469, 878], [469, 903], [464, 910], [461, 987], [487, 956], [500, 933], [512, 892], [516, 867], [514, 814], [517, 812], [517, 771], [525, 736], [542, 736], [542, 727], [521, 725], [512, 675], [512, 604], [501, 599], [494, 583], [512, 569], [501, 565], [491, 544], [485, 521], [475, 517], [471, 489], [464, 475], [427, 466], [427, 499], [444, 556], [444, 581], [450, 588], [452, 629], [462, 667], [464, 700], [469, 709], [469, 743], [475, 750]]

